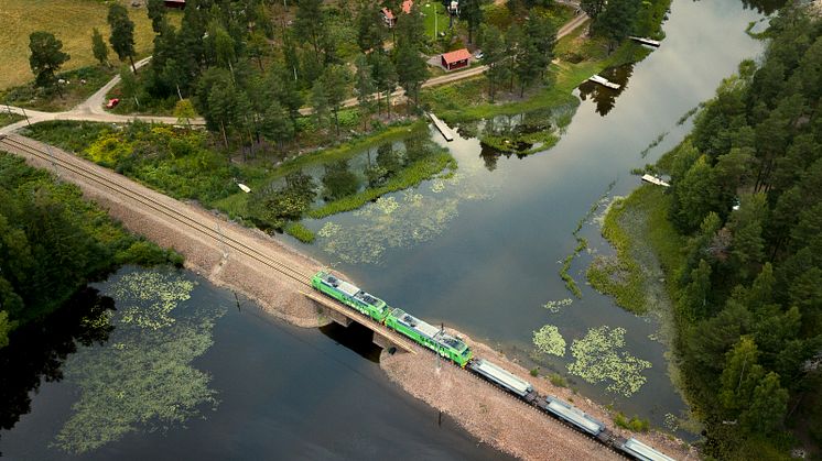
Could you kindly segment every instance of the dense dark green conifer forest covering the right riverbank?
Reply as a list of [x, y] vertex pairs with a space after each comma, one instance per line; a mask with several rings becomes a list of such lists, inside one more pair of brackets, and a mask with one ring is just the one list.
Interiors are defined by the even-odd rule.
[[666, 267], [682, 374], [718, 459], [822, 446], [822, 21], [788, 8], [767, 37], [658, 164], [688, 241]]

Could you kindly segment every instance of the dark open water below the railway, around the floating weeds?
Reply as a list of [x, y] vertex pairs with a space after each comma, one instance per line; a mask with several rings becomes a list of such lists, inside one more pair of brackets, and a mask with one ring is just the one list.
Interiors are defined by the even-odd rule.
[[[121, 282], [123, 274], [133, 273], [129, 268], [120, 271], [112, 277], [113, 282], [99, 287], [101, 293], [111, 294], [112, 283]], [[60, 447], [50, 447], [57, 443], [61, 431], [69, 439], [85, 433], [72, 428], [71, 418], [72, 405], [86, 402], [82, 387], [89, 371], [105, 370], [101, 393], [121, 389], [125, 399], [133, 398], [133, 393], [140, 396], [137, 400], [156, 398], [164, 389], [133, 388], [136, 383], [151, 382], [154, 375], [173, 380], [167, 370], [160, 371], [161, 363], [148, 366], [138, 377], [119, 375], [118, 370], [127, 364], [110, 354], [91, 355], [97, 365], [90, 366], [88, 358], [84, 358], [89, 349], [131, 347], [130, 339], [118, 332], [121, 328], [118, 325], [105, 345], [80, 347], [80, 352], [62, 365], [65, 375], [62, 381], [44, 383], [39, 393], [32, 394], [31, 413], [23, 415], [12, 430], [0, 432], [3, 455], [15, 460], [381, 459], [390, 447], [397, 459], [501, 457], [468, 437], [447, 417], [440, 419], [437, 411], [388, 382], [375, 361], [364, 359], [374, 359], [379, 351], [369, 345], [367, 336], [347, 334], [348, 347], [340, 347], [334, 340], [339, 337], [335, 327], [324, 329], [326, 334], [289, 327], [259, 315], [249, 301], [241, 301], [238, 310], [230, 292], [193, 274], [182, 273], [180, 278], [196, 286], [191, 299], [181, 301], [171, 314], [180, 328], [176, 337], [184, 338], [184, 348], [199, 341], [213, 342], [193, 360], [191, 367], [210, 375], [206, 386], [215, 402], [195, 405], [196, 413], [184, 422], [163, 425], [158, 418], [138, 422], [136, 430], [121, 440], [84, 455], [68, 457]], [[118, 310], [122, 306], [118, 304]], [[115, 318], [122, 314], [118, 311]], [[69, 327], [64, 323], [61, 331], [66, 328]], [[74, 333], [88, 334], [87, 331]], [[140, 341], [151, 342], [156, 334], [149, 331]], [[125, 345], [118, 348], [118, 344]], [[156, 356], [152, 355], [155, 353], [152, 348], [140, 353]], [[158, 362], [164, 362], [164, 358]], [[105, 432], [106, 426], [112, 424], [107, 419], [111, 416], [106, 415], [108, 408], [120, 409], [117, 403], [108, 408], [94, 405], [91, 408], [83, 414], [86, 421], [91, 421], [86, 428], [90, 429], [89, 433]]]

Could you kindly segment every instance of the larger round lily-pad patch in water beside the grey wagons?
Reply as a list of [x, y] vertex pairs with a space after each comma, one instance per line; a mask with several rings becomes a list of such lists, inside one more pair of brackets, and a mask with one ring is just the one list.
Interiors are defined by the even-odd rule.
[[588, 383], [607, 382], [607, 391], [629, 397], [647, 381], [642, 371], [651, 367], [651, 363], [623, 348], [624, 328], [593, 328], [571, 344], [571, 354], [576, 361], [569, 364], [567, 370]]

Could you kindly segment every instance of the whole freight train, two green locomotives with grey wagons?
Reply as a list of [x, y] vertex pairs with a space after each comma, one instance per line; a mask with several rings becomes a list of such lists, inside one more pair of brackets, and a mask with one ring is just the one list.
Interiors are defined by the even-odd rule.
[[311, 285], [325, 296], [345, 304], [363, 316], [385, 325], [434, 353], [439, 353], [512, 397], [538, 408], [630, 459], [673, 461], [673, 458], [635, 438], [618, 437], [604, 422], [567, 402], [552, 395], [540, 395], [528, 381], [486, 359], [475, 358], [471, 348], [459, 337], [451, 336], [443, 328], [436, 328], [402, 309], [390, 307], [385, 300], [366, 293], [350, 282], [344, 281], [327, 271], [320, 271], [312, 277]]

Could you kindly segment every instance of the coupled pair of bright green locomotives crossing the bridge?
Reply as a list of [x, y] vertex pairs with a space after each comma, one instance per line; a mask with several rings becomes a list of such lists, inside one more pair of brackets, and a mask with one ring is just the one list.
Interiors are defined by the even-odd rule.
[[385, 323], [386, 327], [454, 361], [459, 366], [465, 366], [474, 356], [468, 345], [459, 338], [455, 338], [402, 309], [392, 309], [382, 299], [369, 295], [356, 285], [335, 277], [328, 272], [321, 271], [314, 274], [311, 278], [311, 285], [326, 296], [380, 323]]

